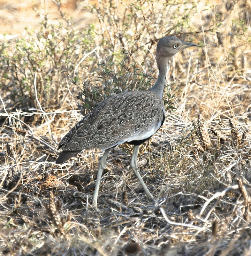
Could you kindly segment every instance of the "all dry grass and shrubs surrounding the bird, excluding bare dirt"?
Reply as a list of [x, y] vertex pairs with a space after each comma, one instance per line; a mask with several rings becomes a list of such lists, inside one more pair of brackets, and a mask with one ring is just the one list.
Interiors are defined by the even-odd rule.
[[[251, 3], [178, 2], [79, 1], [96, 17], [87, 29], [59, 8], [63, 24], [45, 15], [26, 37], [1, 41], [2, 255], [251, 255]], [[97, 211], [102, 152], [56, 165], [57, 143], [80, 107], [154, 83], [164, 35], [199, 47], [175, 56], [170, 115], [139, 156], [156, 202], [124, 145], [108, 157]]]

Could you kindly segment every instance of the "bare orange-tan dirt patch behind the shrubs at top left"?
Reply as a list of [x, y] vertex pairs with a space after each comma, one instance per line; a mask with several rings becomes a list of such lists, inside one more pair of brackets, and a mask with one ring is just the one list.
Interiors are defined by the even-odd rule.
[[[91, 1], [96, 2], [96, 1]], [[67, 19], [81, 29], [87, 27], [91, 22], [95, 21], [94, 16], [88, 12], [78, 1], [61, 1], [61, 10]], [[65, 22], [57, 4], [53, 1], [0, 1], [0, 35], [22, 35], [25, 33], [25, 27], [35, 29], [39, 22], [42, 21], [41, 15], [48, 15], [48, 19], [52, 24]]]

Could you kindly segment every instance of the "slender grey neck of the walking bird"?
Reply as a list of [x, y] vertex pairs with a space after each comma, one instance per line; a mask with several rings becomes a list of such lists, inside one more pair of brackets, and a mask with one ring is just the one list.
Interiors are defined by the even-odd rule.
[[169, 60], [162, 62], [161, 65], [159, 65], [157, 62], [158, 68], [159, 68], [159, 75], [158, 75], [155, 85], [149, 89], [149, 91], [156, 93], [161, 99], [162, 99], [162, 95], [163, 95], [163, 91], [164, 91], [164, 87], [165, 87], [166, 72], [168, 69], [168, 61]]

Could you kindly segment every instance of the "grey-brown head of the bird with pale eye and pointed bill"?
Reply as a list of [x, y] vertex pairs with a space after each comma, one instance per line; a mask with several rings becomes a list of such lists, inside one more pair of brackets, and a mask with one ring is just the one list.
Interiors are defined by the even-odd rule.
[[156, 48], [156, 61], [158, 68], [169, 62], [172, 56], [187, 47], [196, 46], [194, 43], [187, 43], [174, 36], [162, 37]]

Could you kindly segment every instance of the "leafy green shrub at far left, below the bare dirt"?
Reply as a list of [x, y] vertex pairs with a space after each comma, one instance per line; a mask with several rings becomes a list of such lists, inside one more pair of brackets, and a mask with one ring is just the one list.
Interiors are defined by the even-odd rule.
[[[28, 38], [0, 45], [0, 81], [4, 101], [23, 110], [59, 105], [67, 72], [72, 72], [82, 52], [94, 45], [93, 28], [76, 33], [72, 27], [48, 25], [37, 32], [27, 29]], [[79, 52], [79, 53], [78, 53]], [[34, 86], [34, 81], [35, 85]]]

